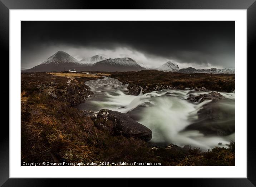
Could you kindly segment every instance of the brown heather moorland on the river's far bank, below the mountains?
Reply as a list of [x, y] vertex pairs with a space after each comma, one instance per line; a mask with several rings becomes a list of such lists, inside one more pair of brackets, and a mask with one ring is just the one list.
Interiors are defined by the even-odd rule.
[[138, 72], [114, 72], [109, 75], [124, 84], [129, 84], [129, 94], [139, 95], [163, 89], [194, 89], [205, 87], [208, 90], [231, 92], [235, 90], [234, 74], [182, 74], [142, 70]]

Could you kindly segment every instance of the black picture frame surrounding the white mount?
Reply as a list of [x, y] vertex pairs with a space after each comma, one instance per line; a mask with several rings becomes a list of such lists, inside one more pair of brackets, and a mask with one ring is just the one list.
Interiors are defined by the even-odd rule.
[[[246, 9], [247, 10], [247, 65], [255, 61], [255, 39], [256, 39], [256, 2], [255, 0], [129, 0], [129, 1], [83, 1], [83, 0], [0, 0], [0, 46], [2, 65], [9, 62], [9, 10], [10, 9]], [[246, 65], [246, 64], [245, 64]], [[251, 65], [250, 65], [251, 66]], [[9, 67], [6, 67], [9, 69]], [[250, 70], [250, 69], [248, 69]], [[5, 69], [6, 71], [6, 69]], [[249, 75], [249, 72], [248, 72]], [[253, 78], [248, 79], [248, 85]], [[7, 82], [7, 81], [6, 81]], [[6, 89], [7, 90], [7, 89]], [[245, 90], [247, 92], [247, 90]], [[8, 91], [9, 92], [9, 91]], [[252, 98], [248, 93], [248, 97]], [[251, 96], [251, 97], [250, 97]], [[9, 98], [10, 99], [10, 98]], [[250, 102], [251, 105], [255, 101]], [[237, 109], [239, 110], [239, 109]], [[11, 111], [10, 111], [11, 112]], [[253, 111], [248, 110], [248, 114]], [[250, 116], [248, 115], [247, 116]], [[4, 121], [4, 120], [3, 120]], [[247, 125], [247, 124], [239, 124]], [[48, 186], [58, 182], [59, 186], [74, 185], [67, 179], [9, 179], [9, 127], [6, 122], [1, 124], [1, 154], [0, 154], [0, 185], [3, 186]], [[247, 178], [230, 179], [171, 179], [178, 182], [179, 186], [256, 186], [256, 148], [255, 148], [254, 124], [247, 126]], [[239, 150], [238, 150], [239, 151]], [[238, 161], [239, 162], [239, 161]], [[78, 179], [80, 182], [84, 179]], [[91, 179], [85, 179], [91, 182]], [[106, 183], [107, 179], [97, 183]], [[123, 179], [116, 185], [131, 186], [136, 179]], [[152, 180], [147, 182], [152, 184]], [[170, 182], [170, 181], [169, 181]], [[85, 184], [84, 184], [85, 185]], [[88, 186], [88, 183], [87, 183]], [[113, 184], [115, 186], [115, 184]]]

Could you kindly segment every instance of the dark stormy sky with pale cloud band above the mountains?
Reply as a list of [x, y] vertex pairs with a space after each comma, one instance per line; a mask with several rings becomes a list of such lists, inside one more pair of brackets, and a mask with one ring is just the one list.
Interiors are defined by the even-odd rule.
[[[118, 16], [118, 15], [117, 15]], [[21, 67], [57, 51], [131, 57], [148, 67], [235, 67], [235, 21], [21, 21]]]

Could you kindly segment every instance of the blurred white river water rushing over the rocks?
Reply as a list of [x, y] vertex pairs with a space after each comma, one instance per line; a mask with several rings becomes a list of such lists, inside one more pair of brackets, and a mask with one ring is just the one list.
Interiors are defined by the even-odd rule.
[[[84, 103], [77, 106], [82, 110], [109, 109], [127, 113], [134, 120], [147, 126], [153, 131], [152, 143], [178, 146], [191, 145], [207, 150], [216, 146], [226, 146], [230, 141], [235, 141], [235, 132], [228, 136], [205, 135], [198, 130], [186, 130], [190, 124], [198, 121], [198, 111], [210, 100], [202, 103], [193, 103], [187, 100], [187, 95], [209, 93], [210, 91], [194, 92], [191, 90], [161, 90], [153, 91], [138, 96], [127, 95], [128, 85], [120, 81], [105, 77], [104, 79], [91, 80], [85, 83], [94, 95]], [[218, 102], [221, 110], [228, 112], [217, 124], [221, 130], [221, 124], [231, 121], [235, 126], [235, 92], [220, 92], [225, 100]], [[232, 121], [233, 120], [233, 121]], [[221, 145], [218, 145], [222, 143]]]

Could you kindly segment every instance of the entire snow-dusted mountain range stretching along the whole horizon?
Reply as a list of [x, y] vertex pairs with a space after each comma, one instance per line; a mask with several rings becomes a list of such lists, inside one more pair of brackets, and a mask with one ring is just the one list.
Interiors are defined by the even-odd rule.
[[78, 61], [74, 57], [70, 56], [64, 51], [58, 51], [54, 55], [50, 56], [41, 64], [32, 67], [31, 69], [21, 70], [21, 72], [49, 72], [49, 71], [68, 71], [69, 69], [76, 69], [77, 71], [141, 71], [141, 70], [158, 70], [164, 72], [181, 72], [181, 73], [229, 73], [235, 74], [234, 69], [208, 69], [208, 70], [196, 70], [195, 68], [188, 67], [186, 69], [179, 69], [179, 66], [174, 62], [168, 61], [162, 66], [149, 69], [146, 65], [141, 62], [124, 57], [107, 59], [100, 55], [92, 57], [84, 57]]

